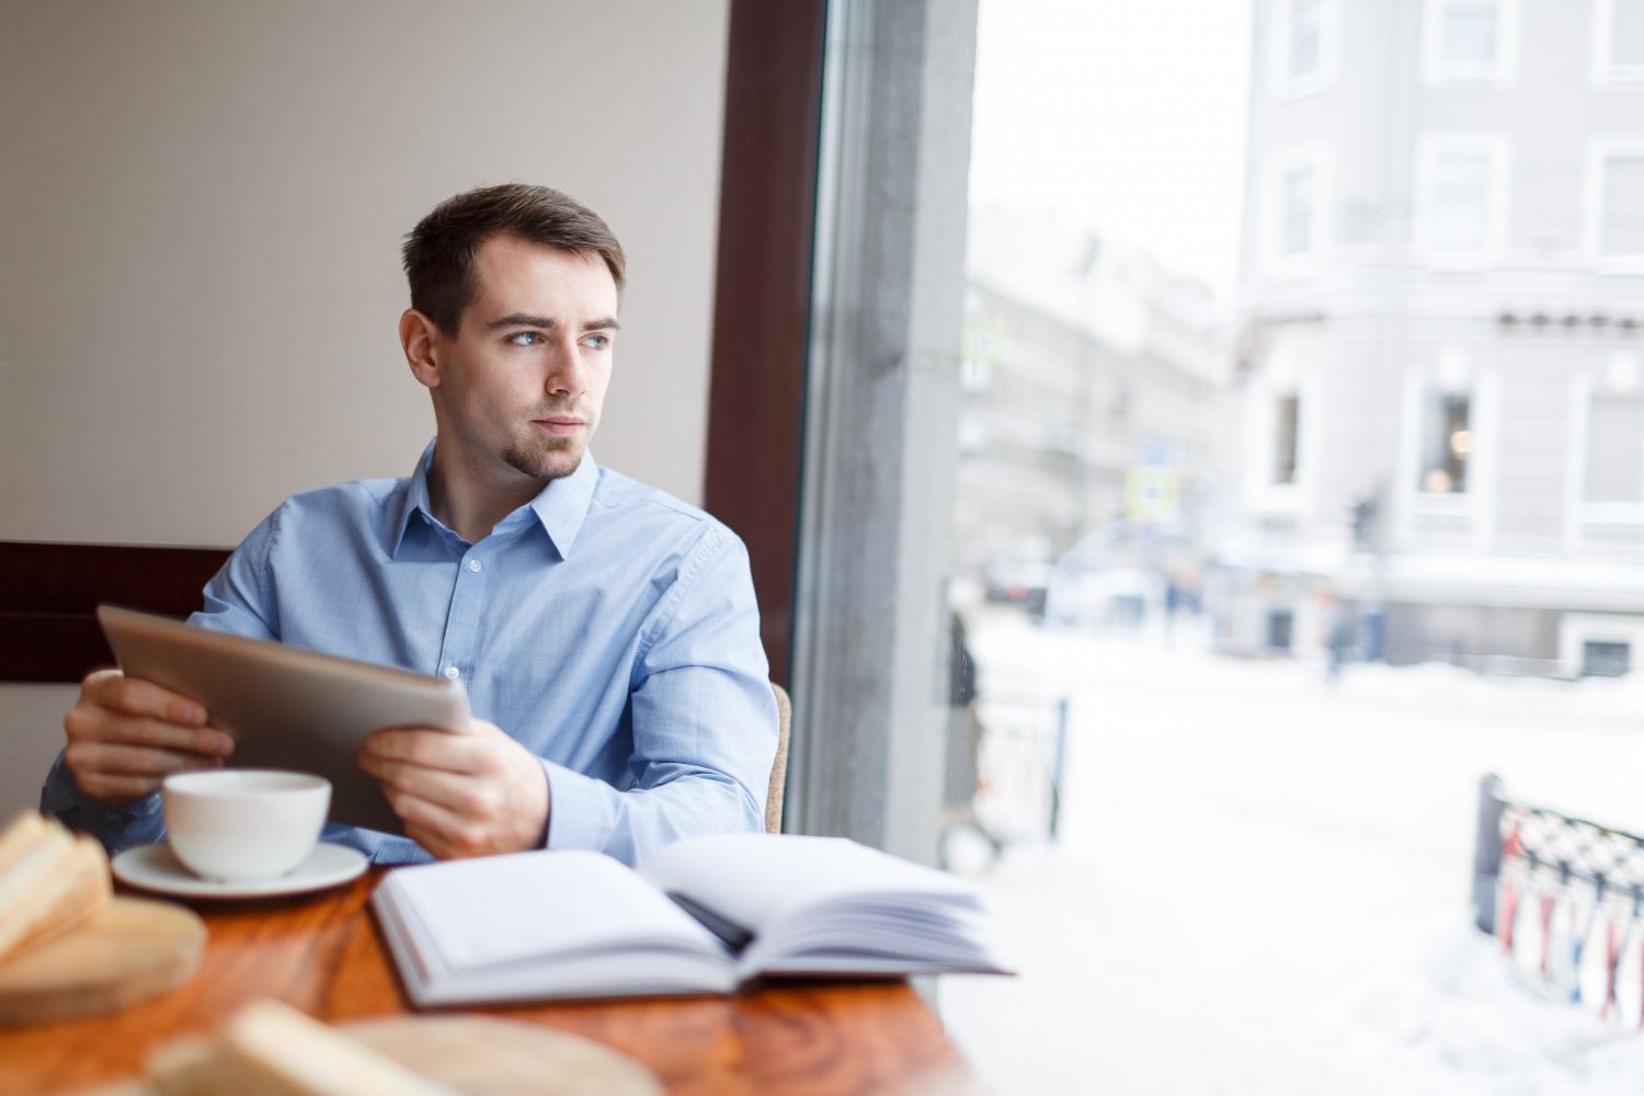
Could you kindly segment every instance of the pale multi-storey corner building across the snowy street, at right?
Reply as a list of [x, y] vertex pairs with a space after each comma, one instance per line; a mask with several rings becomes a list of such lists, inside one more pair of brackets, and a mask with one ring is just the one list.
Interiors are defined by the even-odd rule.
[[1258, 0], [1225, 649], [1644, 665], [1644, 0]]

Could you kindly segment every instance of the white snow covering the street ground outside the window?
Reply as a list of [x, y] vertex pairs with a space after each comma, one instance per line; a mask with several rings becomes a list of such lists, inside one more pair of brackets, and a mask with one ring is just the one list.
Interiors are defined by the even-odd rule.
[[940, 1009], [1000, 1093], [1644, 1091], [1644, 1035], [1470, 923], [1478, 781], [1644, 831], [1644, 693], [1103, 642], [985, 611], [983, 693], [1067, 695], [1057, 843], [978, 868], [1016, 979]]

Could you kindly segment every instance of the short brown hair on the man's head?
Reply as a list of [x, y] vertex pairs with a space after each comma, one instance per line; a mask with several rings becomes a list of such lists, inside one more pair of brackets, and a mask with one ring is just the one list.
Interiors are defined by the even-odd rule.
[[628, 258], [598, 214], [552, 187], [505, 182], [446, 199], [406, 235], [403, 258], [411, 307], [455, 335], [464, 309], [478, 294], [473, 256], [498, 235], [572, 255], [598, 255], [621, 292]]

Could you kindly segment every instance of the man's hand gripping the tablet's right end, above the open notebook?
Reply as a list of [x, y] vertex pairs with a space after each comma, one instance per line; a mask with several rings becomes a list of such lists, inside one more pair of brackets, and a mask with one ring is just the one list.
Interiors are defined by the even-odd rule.
[[360, 767], [383, 785], [406, 836], [441, 859], [543, 845], [547, 772], [493, 723], [473, 720], [467, 735], [378, 731]]

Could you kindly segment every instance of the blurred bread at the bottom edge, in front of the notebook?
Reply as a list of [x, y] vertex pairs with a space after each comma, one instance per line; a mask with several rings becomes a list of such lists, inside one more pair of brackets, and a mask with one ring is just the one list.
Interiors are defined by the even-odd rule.
[[163, 1096], [455, 1096], [278, 1001], [245, 1006], [215, 1042], [161, 1050], [148, 1076]]

